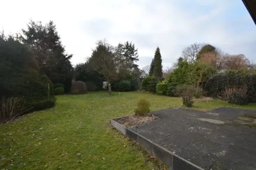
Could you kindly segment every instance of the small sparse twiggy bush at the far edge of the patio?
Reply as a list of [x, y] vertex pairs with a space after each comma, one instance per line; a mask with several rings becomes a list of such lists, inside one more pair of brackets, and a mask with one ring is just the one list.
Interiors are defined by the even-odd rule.
[[193, 94], [195, 91], [196, 89], [192, 85], [179, 85], [176, 87], [176, 92], [181, 97], [183, 105], [187, 107], [193, 106]]

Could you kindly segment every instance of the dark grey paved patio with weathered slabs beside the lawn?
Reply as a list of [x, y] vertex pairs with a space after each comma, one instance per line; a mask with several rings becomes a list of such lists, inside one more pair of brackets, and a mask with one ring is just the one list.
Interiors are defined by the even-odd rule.
[[[241, 120], [247, 114], [256, 115], [256, 111], [228, 107], [207, 112], [170, 108], [151, 114], [158, 119], [129, 129], [188, 161], [185, 164], [173, 156], [172, 163], [169, 163], [173, 169], [194, 169], [195, 166], [189, 163], [214, 170], [256, 169], [256, 127], [251, 126], [254, 119], [250, 119], [250, 122]], [[216, 122], [205, 121], [208, 119]], [[145, 145], [147, 150], [154, 148], [153, 144], [146, 142]], [[165, 155], [157, 148], [155, 152]]]

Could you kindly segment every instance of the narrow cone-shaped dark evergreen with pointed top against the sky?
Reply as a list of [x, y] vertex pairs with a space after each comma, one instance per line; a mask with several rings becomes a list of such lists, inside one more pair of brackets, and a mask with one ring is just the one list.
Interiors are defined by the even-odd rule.
[[162, 57], [159, 47], [155, 50], [153, 75], [162, 78]]

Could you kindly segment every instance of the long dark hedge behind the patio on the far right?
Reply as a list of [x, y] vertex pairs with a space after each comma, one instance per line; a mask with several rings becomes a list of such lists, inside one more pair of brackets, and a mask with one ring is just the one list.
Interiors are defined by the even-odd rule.
[[203, 82], [207, 96], [227, 100], [231, 93], [244, 93], [249, 103], [256, 102], [256, 75], [215, 75]]

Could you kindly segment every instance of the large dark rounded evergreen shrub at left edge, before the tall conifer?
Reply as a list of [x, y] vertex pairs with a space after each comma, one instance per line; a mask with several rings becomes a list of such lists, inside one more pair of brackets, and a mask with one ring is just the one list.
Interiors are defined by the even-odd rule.
[[0, 100], [2, 96], [23, 97], [25, 107], [54, 93], [49, 78], [39, 73], [33, 52], [13, 37], [0, 37], [0, 89]]

